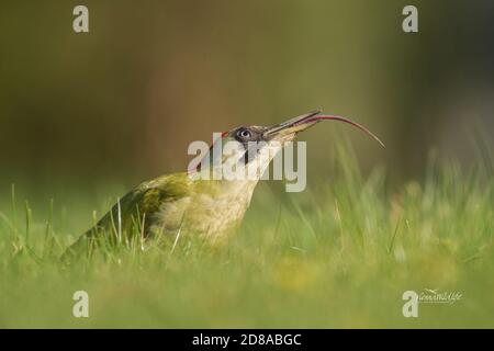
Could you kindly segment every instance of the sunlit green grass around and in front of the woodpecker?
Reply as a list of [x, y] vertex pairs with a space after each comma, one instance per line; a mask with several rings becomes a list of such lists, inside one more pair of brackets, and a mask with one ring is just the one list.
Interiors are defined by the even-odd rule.
[[[260, 184], [224, 249], [137, 240], [71, 268], [57, 258], [90, 225], [90, 201], [74, 193], [70, 212], [46, 200], [41, 220], [12, 188], [0, 204], [0, 327], [494, 327], [492, 168], [433, 158], [422, 181], [392, 190], [345, 150], [330, 182], [292, 194]], [[424, 288], [462, 299], [404, 318], [403, 292]], [[89, 318], [71, 315], [79, 290]]]

